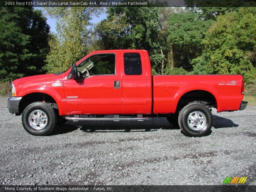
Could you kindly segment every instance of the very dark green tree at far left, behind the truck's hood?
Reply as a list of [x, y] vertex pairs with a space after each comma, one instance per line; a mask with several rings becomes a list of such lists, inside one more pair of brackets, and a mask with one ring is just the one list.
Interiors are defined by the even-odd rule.
[[0, 80], [43, 73], [49, 26], [32, 7], [0, 7]]

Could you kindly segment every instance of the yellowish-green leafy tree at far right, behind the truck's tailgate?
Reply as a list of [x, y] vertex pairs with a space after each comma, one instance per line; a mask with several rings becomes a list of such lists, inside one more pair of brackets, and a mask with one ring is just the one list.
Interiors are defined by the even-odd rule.
[[255, 82], [256, 8], [239, 8], [217, 17], [201, 56], [192, 60], [195, 74], [242, 74]]

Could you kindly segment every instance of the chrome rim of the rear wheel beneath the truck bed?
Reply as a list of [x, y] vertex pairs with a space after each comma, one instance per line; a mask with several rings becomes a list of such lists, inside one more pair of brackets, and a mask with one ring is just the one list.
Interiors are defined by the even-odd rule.
[[201, 111], [193, 111], [188, 115], [188, 126], [194, 131], [206, 129], [206, 116]]

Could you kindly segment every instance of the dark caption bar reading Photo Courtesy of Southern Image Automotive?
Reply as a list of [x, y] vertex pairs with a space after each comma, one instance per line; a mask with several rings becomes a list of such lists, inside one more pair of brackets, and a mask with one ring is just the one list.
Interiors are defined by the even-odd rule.
[[179, 186], [163, 186], [163, 185], [2, 185], [0, 192], [254, 192], [255, 185], [179, 185]]

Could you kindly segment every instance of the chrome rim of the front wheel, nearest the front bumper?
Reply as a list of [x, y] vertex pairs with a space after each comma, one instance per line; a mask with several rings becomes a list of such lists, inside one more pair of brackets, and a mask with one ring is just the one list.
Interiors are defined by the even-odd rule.
[[28, 116], [28, 122], [36, 130], [44, 129], [47, 125], [48, 117], [42, 110], [34, 110]]

